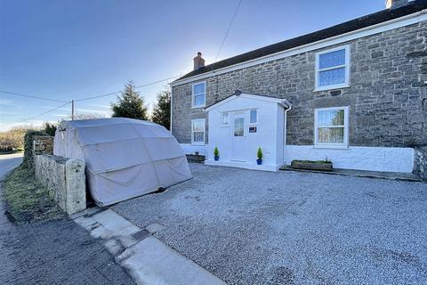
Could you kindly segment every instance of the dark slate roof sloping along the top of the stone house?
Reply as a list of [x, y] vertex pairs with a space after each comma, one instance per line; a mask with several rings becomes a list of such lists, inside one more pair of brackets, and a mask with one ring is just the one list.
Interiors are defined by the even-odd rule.
[[342, 24], [338, 24], [333, 27], [320, 29], [316, 32], [301, 37], [294, 37], [286, 41], [279, 42], [277, 44], [267, 45], [248, 53], [242, 53], [222, 61], [214, 62], [212, 64], [206, 65], [203, 68], [193, 70], [175, 81], [179, 81], [188, 77], [193, 77], [216, 69], [222, 69], [241, 62], [251, 61], [273, 53], [283, 52], [294, 47], [307, 45], [329, 37], [335, 37], [342, 34], [346, 34], [351, 31], [358, 30], [360, 28], [374, 26], [384, 21], [394, 20], [415, 12], [420, 12], [424, 9], [427, 9], [427, 0], [416, 0], [396, 9], [386, 9], [380, 12], [375, 12], [367, 16], [343, 22]]

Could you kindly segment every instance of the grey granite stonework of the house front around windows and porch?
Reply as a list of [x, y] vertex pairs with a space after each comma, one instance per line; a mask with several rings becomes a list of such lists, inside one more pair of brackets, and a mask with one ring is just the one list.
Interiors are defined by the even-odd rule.
[[[286, 98], [286, 143], [314, 141], [314, 110], [350, 106], [350, 145], [407, 147], [427, 143], [427, 23], [396, 28], [341, 45], [350, 45], [350, 87], [314, 92], [315, 54], [301, 53], [277, 61], [208, 77], [206, 106], [233, 94]], [[341, 45], [332, 45], [328, 48]], [[191, 142], [191, 119], [206, 118], [191, 108], [191, 85], [173, 86], [173, 135]], [[206, 143], [208, 138], [206, 137]]]

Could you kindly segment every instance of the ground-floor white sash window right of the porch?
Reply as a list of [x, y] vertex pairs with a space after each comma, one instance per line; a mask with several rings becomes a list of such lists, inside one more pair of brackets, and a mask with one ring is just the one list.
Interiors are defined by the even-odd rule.
[[315, 144], [347, 147], [348, 107], [317, 109], [315, 114]]

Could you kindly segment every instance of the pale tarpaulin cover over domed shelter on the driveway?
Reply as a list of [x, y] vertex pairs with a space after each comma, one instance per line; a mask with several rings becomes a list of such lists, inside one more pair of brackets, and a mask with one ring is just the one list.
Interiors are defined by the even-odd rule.
[[192, 177], [164, 126], [132, 118], [65, 121], [56, 131], [53, 154], [85, 161], [89, 191], [101, 207]]

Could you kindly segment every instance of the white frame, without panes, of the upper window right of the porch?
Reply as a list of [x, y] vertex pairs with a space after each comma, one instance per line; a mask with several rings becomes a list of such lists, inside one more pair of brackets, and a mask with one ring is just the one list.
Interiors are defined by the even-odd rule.
[[[343, 65], [334, 66], [332, 68], [327, 69], [319, 69], [320, 66], [320, 55], [325, 53], [332, 53], [339, 50], [345, 50], [345, 63]], [[320, 71], [327, 71], [327, 70], [334, 70], [334, 69], [342, 69], [345, 68], [345, 80], [344, 83], [335, 84], [335, 85], [325, 85], [325, 86], [319, 86], [319, 73]], [[315, 88], [314, 91], [325, 91], [325, 90], [331, 90], [331, 89], [338, 89], [338, 88], [346, 88], [350, 87], [350, 45], [342, 45], [335, 48], [331, 48], [322, 52], [316, 53], [316, 72], [315, 72]]]

